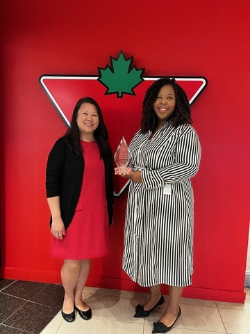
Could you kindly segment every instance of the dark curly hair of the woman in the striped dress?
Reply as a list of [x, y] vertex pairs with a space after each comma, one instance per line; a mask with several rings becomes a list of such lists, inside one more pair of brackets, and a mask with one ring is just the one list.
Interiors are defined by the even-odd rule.
[[175, 79], [169, 77], [163, 77], [156, 80], [147, 89], [144, 100], [142, 102], [142, 121], [141, 121], [141, 132], [146, 133], [148, 131], [154, 132], [158, 125], [158, 118], [153, 109], [153, 103], [156, 101], [160, 89], [165, 85], [171, 85], [174, 88], [176, 95], [176, 106], [172, 115], [169, 117], [169, 122], [174, 126], [178, 127], [181, 124], [192, 124], [191, 109], [188, 102], [188, 97], [178, 84]]

